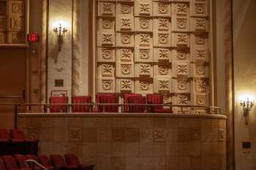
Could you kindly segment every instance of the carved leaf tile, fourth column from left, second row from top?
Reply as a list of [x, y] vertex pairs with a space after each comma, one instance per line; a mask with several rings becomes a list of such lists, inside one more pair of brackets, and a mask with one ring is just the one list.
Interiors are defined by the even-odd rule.
[[170, 18], [154, 18], [154, 31], [170, 31]]

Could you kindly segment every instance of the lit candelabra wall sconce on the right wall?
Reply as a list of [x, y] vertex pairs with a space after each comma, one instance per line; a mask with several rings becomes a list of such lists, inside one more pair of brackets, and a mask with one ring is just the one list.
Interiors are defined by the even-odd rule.
[[249, 96], [241, 97], [240, 106], [243, 107], [243, 116], [244, 116], [245, 124], [248, 125], [249, 111], [252, 110], [253, 98]]

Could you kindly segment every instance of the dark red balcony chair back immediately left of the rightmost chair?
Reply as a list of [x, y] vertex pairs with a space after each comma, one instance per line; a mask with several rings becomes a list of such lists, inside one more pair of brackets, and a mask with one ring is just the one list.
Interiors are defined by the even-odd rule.
[[[129, 104], [146, 104], [146, 97], [142, 96], [130, 96], [129, 97]], [[145, 112], [146, 106], [142, 105], [130, 105], [129, 112]]]

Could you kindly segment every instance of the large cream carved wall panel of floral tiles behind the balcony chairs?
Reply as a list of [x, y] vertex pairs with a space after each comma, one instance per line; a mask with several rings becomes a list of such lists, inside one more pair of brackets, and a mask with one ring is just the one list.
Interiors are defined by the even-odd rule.
[[208, 105], [208, 0], [97, 7], [98, 93], [163, 93], [173, 104]]

